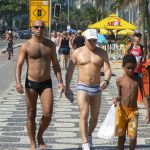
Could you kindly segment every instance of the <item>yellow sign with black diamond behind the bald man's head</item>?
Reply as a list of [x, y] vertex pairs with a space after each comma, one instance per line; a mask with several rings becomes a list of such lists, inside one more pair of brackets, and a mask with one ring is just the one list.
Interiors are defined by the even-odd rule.
[[30, 0], [30, 24], [35, 20], [42, 20], [45, 22], [46, 26], [49, 26], [49, 0]]

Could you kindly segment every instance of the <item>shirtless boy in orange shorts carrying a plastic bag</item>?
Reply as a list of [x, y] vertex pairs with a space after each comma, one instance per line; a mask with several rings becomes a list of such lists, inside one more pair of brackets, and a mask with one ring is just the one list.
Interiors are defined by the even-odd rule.
[[124, 150], [126, 131], [130, 139], [130, 150], [134, 150], [136, 147], [138, 129], [138, 87], [143, 95], [143, 102], [147, 111], [147, 123], [150, 122], [150, 112], [142, 81], [134, 75], [136, 68], [135, 57], [131, 54], [125, 55], [122, 66], [125, 74], [116, 80], [118, 97], [114, 100], [114, 103], [120, 101], [120, 104], [117, 107], [115, 134], [119, 136], [118, 150]]

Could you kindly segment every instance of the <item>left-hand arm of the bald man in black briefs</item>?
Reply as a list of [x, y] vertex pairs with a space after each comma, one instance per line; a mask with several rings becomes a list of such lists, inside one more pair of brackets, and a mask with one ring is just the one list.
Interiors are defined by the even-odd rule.
[[21, 85], [21, 72], [25, 58], [26, 58], [26, 46], [23, 44], [19, 50], [15, 70], [16, 90], [18, 91], [18, 93], [21, 94], [24, 93], [23, 87]]

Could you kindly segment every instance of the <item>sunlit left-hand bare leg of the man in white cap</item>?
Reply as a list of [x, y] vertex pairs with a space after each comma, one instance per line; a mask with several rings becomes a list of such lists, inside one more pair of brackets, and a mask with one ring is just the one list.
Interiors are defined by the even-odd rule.
[[84, 91], [77, 92], [78, 105], [80, 109], [80, 133], [83, 143], [87, 143], [89, 96]]

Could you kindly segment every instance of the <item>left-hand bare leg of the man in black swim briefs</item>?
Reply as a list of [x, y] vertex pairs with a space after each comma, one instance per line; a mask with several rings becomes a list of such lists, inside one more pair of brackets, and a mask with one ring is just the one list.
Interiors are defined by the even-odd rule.
[[37, 104], [38, 94], [32, 89], [26, 88], [26, 103], [27, 103], [27, 130], [31, 142], [31, 150], [35, 150], [35, 130], [36, 130], [36, 104]]

